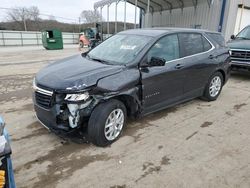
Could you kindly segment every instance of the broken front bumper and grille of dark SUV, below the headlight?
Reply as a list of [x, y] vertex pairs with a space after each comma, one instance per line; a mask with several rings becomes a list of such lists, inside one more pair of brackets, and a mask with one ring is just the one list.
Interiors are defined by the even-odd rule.
[[[63, 101], [65, 95], [36, 90], [33, 103], [37, 119], [48, 129], [70, 132], [83, 126], [94, 107], [94, 100], [79, 103]], [[60, 102], [58, 102], [60, 100]]]

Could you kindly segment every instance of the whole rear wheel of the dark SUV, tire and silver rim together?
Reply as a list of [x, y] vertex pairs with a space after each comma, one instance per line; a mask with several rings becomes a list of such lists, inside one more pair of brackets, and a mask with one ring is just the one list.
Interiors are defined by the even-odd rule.
[[223, 84], [223, 75], [220, 72], [215, 72], [208, 80], [202, 99], [215, 101], [221, 93]]

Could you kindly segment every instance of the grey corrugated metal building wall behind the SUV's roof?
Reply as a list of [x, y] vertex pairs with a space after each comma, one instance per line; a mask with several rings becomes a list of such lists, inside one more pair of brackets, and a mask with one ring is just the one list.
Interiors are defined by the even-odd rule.
[[[199, 2], [199, 1], [198, 1]], [[244, 3], [250, 7], [250, 0], [227, 0], [222, 33], [226, 40], [234, 34], [238, 5]], [[218, 31], [222, 0], [214, 0], [209, 7], [208, 3], [198, 4], [197, 9], [186, 7], [183, 10], [174, 9], [172, 12], [150, 13], [145, 15], [145, 27], [187, 27], [201, 28], [211, 31]], [[250, 24], [250, 18], [249, 18]]]

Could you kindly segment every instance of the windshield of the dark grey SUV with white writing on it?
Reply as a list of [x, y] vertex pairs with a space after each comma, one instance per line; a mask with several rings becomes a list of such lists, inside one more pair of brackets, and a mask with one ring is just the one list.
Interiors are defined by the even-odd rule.
[[114, 35], [91, 50], [87, 57], [113, 65], [131, 63], [151, 40], [148, 36]]

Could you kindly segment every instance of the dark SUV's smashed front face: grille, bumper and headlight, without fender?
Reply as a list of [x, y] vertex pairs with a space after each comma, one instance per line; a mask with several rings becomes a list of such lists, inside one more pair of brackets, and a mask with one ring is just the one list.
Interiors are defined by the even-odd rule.
[[37, 86], [35, 83], [33, 88], [37, 118], [52, 130], [69, 132], [83, 127], [99, 101], [87, 90], [80, 93], [66, 93]]

